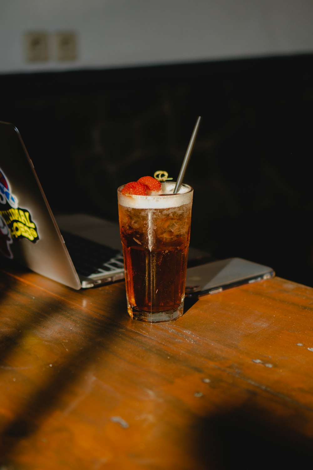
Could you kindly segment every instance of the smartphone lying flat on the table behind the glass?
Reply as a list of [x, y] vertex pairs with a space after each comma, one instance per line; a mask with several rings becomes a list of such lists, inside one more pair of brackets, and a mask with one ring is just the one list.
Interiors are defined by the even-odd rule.
[[243, 258], [211, 261], [187, 269], [185, 295], [199, 298], [274, 276], [275, 272], [271, 267]]

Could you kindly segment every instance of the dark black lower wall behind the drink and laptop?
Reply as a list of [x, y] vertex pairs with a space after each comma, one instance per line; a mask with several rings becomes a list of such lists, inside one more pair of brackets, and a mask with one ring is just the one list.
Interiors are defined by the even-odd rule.
[[117, 220], [116, 188], [186, 182], [191, 244], [313, 286], [313, 55], [0, 75], [0, 120], [20, 130], [54, 211]]

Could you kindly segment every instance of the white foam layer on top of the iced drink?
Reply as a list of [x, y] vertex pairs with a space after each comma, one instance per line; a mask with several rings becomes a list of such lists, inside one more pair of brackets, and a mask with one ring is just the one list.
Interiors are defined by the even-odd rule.
[[161, 184], [162, 192], [149, 196], [139, 196], [137, 194], [124, 195], [121, 193], [124, 186], [120, 186], [117, 190], [118, 202], [122, 206], [134, 209], [166, 209], [192, 202], [193, 189], [188, 184], [183, 184], [177, 194], [173, 194], [175, 182], [165, 181]]

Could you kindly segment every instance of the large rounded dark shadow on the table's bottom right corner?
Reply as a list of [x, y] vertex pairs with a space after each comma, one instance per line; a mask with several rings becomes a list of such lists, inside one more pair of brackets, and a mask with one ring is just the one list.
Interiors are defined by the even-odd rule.
[[287, 417], [251, 406], [200, 419], [191, 439], [195, 469], [296, 470], [313, 468], [312, 440], [301, 435], [307, 423], [296, 412], [298, 431]]

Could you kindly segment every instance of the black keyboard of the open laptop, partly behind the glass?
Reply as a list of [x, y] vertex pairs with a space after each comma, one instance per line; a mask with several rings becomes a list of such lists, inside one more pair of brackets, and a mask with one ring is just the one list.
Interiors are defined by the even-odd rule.
[[96, 277], [124, 269], [121, 251], [78, 235], [63, 231], [61, 233], [78, 274]]

